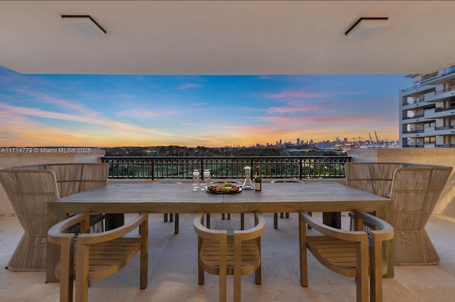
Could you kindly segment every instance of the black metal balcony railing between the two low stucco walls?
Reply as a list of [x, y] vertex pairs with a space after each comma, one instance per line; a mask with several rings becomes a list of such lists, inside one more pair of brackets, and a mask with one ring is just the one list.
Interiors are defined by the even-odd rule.
[[[262, 178], [345, 178], [350, 156], [105, 156], [109, 179], [191, 179], [209, 169], [214, 179], [245, 178], [245, 166], [259, 166]], [[201, 173], [202, 175], [202, 173]]]

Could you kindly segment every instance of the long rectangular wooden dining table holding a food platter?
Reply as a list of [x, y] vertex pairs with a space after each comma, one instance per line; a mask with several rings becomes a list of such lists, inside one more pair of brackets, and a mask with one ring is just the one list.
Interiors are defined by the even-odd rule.
[[[189, 183], [109, 183], [48, 203], [48, 228], [68, 212], [109, 213], [262, 213], [383, 210], [392, 200], [335, 182], [262, 183], [262, 190], [215, 194], [192, 190]], [[387, 217], [382, 217], [387, 220]], [[298, 226], [296, 225], [296, 230]], [[392, 247], [387, 247], [390, 249]], [[392, 251], [393, 252], [393, 251]], [[390, 255], [390, 251], [387, 252]], [[58, 282], [58, 246], [48, 243], [46, 282]], [[391, 270], [391, 271], [390, 271]], [[393, 276], [389, 264], [387, 276]]]

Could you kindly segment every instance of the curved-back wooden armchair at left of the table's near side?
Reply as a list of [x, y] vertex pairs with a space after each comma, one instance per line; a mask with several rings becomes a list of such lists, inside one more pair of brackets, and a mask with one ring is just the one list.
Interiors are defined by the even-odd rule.
[[[68, 228], [80, 223], [82, 234], [68, 233]], [[107, 232], [87, 234], [90, 213], [69, 217], [51, 227], [48, 240], [60, 244], [60, 265], [55, 275], [60, 279], [60, 302], [73, 301], [73, 279], [76, 281], [75, 301], [87, 302], [88, 285], [122, 269], [141, 252], [140, 285], [147, 287], [149, 214], [141, 213], [132, 222]], [[139, 227], [139, 237], [124, 237]]]

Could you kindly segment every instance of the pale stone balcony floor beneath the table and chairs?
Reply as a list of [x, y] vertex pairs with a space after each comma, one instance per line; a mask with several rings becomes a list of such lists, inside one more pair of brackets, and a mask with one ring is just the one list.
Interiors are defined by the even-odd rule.
[[[348, 218], [343, 213], [343, 221]], [[180, 233], [163, 215], [151, 215], [149, 233], [149, 286], [139, 290], [139, 261], [136, 257], [122, 271], [93, 281], [89, 301], [218, 301], [218, 276], [197, 279], [194, 215], [181, 215]], [[238, 215], [232, 215], [235, 221]], [[242, 301], [336, 301], [354, 302], [354, 279], [325, 269], [309, 259], [309, 287], [299, 282], [297, 215], [279, 219], [267, 214], [262, 237], [262, 285], [252, 275], [242, 277]], [[251, 220], [249, 217], [248, 220]], [[215, 218], [212, 219], [214, 223]], [[384, 279], [385, 302], [452, 302], [455, 297], [455, 217], [433, 215], [427, 231], [439, 252], [436, 266], [395, 266], [395, 278]], [[0, 217], [0, 301], [58, 301], [58, 284], [45, 284], [44, 272], [5, 269], [22, 230], [16, 217]], [[232, 301], [232, 279], [228, 278], [228, 301]]]

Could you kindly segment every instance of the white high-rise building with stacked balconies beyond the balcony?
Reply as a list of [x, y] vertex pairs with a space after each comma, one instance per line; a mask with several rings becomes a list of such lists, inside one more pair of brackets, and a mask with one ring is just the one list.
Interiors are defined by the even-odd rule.
[[407, 77], [414, 86], [400, 91], [400, 145], [455, 147], [455, 65]]

